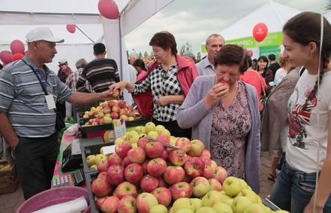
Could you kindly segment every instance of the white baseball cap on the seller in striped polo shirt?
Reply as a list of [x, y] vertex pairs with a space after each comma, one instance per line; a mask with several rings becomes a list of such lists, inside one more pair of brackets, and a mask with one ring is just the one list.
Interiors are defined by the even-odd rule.
[[26, 43], [30, 43], [32, 41], [50, 41], [55, 43], [63, 43], [64, 39], [55, 38], [50, 28], [47, 27], [39, 27], [34, 28], [30, 32], [26, 34]]

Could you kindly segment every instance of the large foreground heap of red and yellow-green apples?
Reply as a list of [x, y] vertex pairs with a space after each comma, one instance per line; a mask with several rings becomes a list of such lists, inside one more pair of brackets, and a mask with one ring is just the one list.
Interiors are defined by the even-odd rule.
[[143, 128], [140, 134], [155, 141], [122, 139], [106, 159], [94, 159], [101, 163], [91, 188], [101, 212], [272, 212], [245, 181], [212, 161], [201, 141], [173, 139], [154, 123]]

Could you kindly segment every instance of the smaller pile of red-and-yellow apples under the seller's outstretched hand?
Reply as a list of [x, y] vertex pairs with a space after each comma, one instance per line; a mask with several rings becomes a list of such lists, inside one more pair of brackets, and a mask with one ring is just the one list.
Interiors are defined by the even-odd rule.
[[97, 108], [92, 107], [83, 115], [83, 119], [89, 119], [84, 126], [110, 124], [113, 119], [134, 121], [139, 118], [141, 118], [139, 110], [134, 110], [126, 101], [115, 99], [103, 101]]

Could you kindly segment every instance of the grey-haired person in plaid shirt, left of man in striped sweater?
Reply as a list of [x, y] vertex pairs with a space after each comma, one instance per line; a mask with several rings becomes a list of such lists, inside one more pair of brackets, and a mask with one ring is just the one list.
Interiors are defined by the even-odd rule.
[[[74, 92], [76, 92], [76, 90], [77, 90], [76, 89], [77, 81], [79, 79], [79, 76], [81, 75], [81, 72], [86, 67], [86, 65], [88, 65], [88, 61], [86, 61], [85, 59], [79, 59], [76, 62], [77, 71], [72, 72], [72, 74], [70, 74], [66, 80], [66, 85], [68, 86], [68, 88], [70, 88]], [[84, 85], [84, 89], [85, 90], [83, 90], [83, 92], [89, 92], [89, 93], [93, 92], [92, 86], [90, 85], [90, 83], [88, 81], [86, 81], [86, 83]], [[72, 104], [72, 114], [74, 114], [74, 120], [77, 121], [77, 112], [88, 111], [94, 105], [97, 105], [97, 103]]]

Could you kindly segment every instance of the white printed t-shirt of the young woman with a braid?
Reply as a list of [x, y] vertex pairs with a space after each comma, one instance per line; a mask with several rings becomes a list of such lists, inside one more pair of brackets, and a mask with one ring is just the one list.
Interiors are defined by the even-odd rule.
[[[302, 110], [309, 93], [317, 81], [317, 74], [305, 71], [294, 88], [289, 101], [290, 130], [286, 146], [286, 161], [290, 167], [305, 173], [321, 170], [328, 144], [328, 113], [331, 110], [331, 72], [325, 72], [317, 98], [308, 101], [308, 110]], [[310, 110], [309, 110], [310, 109]], [[317, 116], [319, 114], [319, 116]], [[319, 120], [319, 121], [318, 121]], [[309, 141], [319, 143], [318, 147]]]

